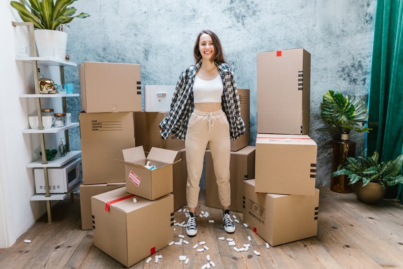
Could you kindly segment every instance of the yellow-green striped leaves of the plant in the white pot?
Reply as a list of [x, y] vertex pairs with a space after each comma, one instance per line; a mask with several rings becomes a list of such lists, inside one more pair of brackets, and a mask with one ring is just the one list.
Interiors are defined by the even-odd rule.
[[24, 4], [11, 1], [10, 5], [20, 14], [24, 22], [32, 22], [36, 29], [57, 30], [74, 18], [87, 18], [87, 13], [76, 14], [77, 9], [69, 7], [78, 0], [22, 0]]

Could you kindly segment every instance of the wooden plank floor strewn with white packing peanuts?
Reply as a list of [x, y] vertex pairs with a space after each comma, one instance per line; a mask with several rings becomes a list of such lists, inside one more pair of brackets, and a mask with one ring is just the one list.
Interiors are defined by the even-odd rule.
[[[318, 235], [304, 240], [270, 247], [242, 225], [242, 214], [233, 212], [240, 221], [236, 232], [228, 235], [221, 222], [222, 211], [206, 207], [200, 192], [201, 210], [210, 217], [198, 218], [198, 234], [186, 236], [185, 228], [175, 226], [175, 239], [185, 235], [188, 245], [167, 246], [155, 255], [163, 255], [158, 263], [145, 260], [131, 268], [200, 268], [210, 255], [216, 268], [403, 268], [403, 206], [392, 200], [376, 205], [359, 202], [354, 193], [331, 192], [319, 187]], [[10, 248], [0, 249], [0, 268], [124, 268], [119, 262], [93, 245], [92, 231], [81, 230], [80, 200], [59, 202], [52, 208], [54, 223], [46, 224], [43, 216]], [[175, 212], [175, 220], [186, 218]], [[215, 220], [209, 223], [208, 220]], [[248, 252], [235, 252], [228, 242], [218, 237], [233, 238], [237, 247], [249, 243]], [[24, 243], [24, 239], [32, 242]], [[193, 246], [205, 241], [209, 250], [197, 252]], [[201, 246], [198, 246], [201, 248]], [[253, 254], [260, 252], [260, 256]], [[179, 261], [186, 255], [189, 264]]]

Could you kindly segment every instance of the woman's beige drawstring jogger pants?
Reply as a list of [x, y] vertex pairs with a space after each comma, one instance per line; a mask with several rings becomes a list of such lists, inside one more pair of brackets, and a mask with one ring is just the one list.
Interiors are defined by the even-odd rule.
[[231, 204], [230, 188], [230, 131], [227, 116], [222, 110], [201, 112], [194, 110], [187, 125], [185, 148], [187, 165], [186, 199], [188, 207], [197, 207], [199, 182], [207, 143], [213, 157], [218, 195], [223, 206]]

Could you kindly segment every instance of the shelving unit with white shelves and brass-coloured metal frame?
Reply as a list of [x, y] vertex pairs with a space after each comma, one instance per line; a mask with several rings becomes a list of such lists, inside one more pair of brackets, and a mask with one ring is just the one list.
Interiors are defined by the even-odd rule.
[[[20, 94], [20, 98], [35, 98], [36, 100], [36, 110], [37, 110], [37, 115], [41, 115], [41, 98], [61, 98], [62, 100], [62, 106], [63, 106], [63, 113], [67, 112], [67, 107], [66, 107], [66, 100], [65, 98], [68, 97], [77, 97], [80, 96], [80, 94], [41, 94], [40, 93], [40, 88], [39, 88], [39, 78], [38, 78], [38, 64], [42, 66], [48, 66], [48, 67], [59, 67], [60, 70], [60, 82], [61, 84], [64, 84], [64, 67], [77, 67], [76, 63], [73, 62], [66, 62], [61, 59], [56, 59], [56, 58], [51, 58], [51, 57], [36, 57], [36, 47], [35, 47], [35, 37], [34, 37], [34, 27], [32, 23], [29, 22], [12, 22], [12, 25], [14, 27], [16, 26], [28, 26], [29, 28], [29, 33], [30, 33], [30, 43], [31, 43], [31, 55], [33, 57], [18, 57], [16, 58], [16, 61], [22, 61], [26, 63], [32, 64], [33, 72], [34, 72], [34, 84], [35, 84], [35, 93], [28, 93], [28, 94]], [[68, 126], [60, 127], [60, 128], [49, 128], [49, 129], [44, 129], [42, 125], [42, 118], [38, 117], [38, 122], [39, 122], [39, 128], [38, 129], [26, 129], [23, 130], [22, 132], [24, 134], [39, 134], [40, 136], [40, 142], [41, 142], [41, 151], [45, 152], [45, 137], [44, 134], [47, 133], [59, 133], [64, 131], [64, 138], [66, 142], [66, 148], [67, 148], [67, 153], [65, 156], [56, 156], [53, 160], [46, 160], [46, 154], [43, 154], [43, 156], [37, 160], [35, 160], [32, 163], [29, 163], [27, 165], [27, 168], [43, 168], [44, 170], [44, 177], [45, 177], [45, 194], [35, 194], [31, 197], [31, 201], [46, 201], [46, 206], [47, 206], [47, 216], [48, 216], [48, 223], [52, 223], [52, 214], [51, 214], [51, 206], [50, 206], [50, 201], [56, 201], [56, 200], [63, 200], [65, 197], [67, 197], [69, 194], [71, 195], [71, 198], [73, 200], [73, 190], [79, 186], [82, 182], [79, 182], [74, 188], [72, 188], [71, 191], [68, 193], [49, 193], [49, 179], [48, 179], [48, 168], [57, 168], [61, 167], [67, 163], [69, 163], [72, 159], [79, 157], [81, 154], [81, 151], [76, 150], [76, 151], [70, 151], [70, 145], [69, 145], [69, 132], [68, 129], [74, 128], [79, 126], [79, 123], [72, 123]]]

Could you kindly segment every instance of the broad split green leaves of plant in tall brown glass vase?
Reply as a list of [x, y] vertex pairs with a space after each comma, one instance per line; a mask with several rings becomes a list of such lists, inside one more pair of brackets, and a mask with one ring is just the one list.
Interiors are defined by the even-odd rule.
[[365, 127], [368, 123], [367, 105], [357, 96], [343, 95], [328, 90], [320, 104], [320, 116], [330, 129], [341, 133], [354, 130], [359, 133], [368, 132], [372, 128]]

